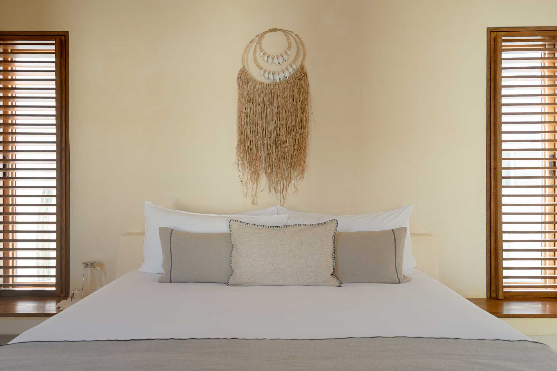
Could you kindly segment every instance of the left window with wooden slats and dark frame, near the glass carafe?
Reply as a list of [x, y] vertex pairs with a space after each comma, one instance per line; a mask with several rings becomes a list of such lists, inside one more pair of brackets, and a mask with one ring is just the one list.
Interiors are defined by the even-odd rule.
[[0, 296], [68, 295], [67, 33], [0, 32]]

